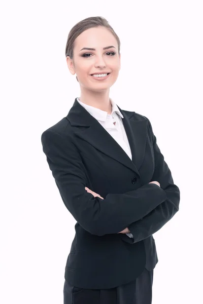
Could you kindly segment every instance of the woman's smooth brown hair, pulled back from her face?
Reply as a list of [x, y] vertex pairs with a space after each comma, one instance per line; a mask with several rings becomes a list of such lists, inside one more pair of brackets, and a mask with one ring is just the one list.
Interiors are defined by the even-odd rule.
[[118, 43], [118, 54], [120, 55], [120, 40], [118, 35], [115, 33], [107, 19], [104, 17], [89, 17], [80, 22], [78, 22], [74, 27], [70, 30], [69, 36], [67, 37], [67, 43], [65, 47], [65, 57], [69, 56], [71, 59], [73, 58], [73, 49], [74, 49], [74, 41], [75, 39], [86, 29], [97, 26], [105, 26], [108, 28], [112, 34], [115, 36]]

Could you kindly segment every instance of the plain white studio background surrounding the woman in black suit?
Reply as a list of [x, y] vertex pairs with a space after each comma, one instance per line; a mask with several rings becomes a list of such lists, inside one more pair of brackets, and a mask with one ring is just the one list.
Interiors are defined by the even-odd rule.
[[80, 97], [65, 45], [71, 28], [91, 16], [105, 17], [121, 41], [110, 97], [149, 118], [181, 191], [179, 212], [154, 234], [153, 304], [202, 302], [202, 2], [8, 1], [0, 11], [0, 302], [63, 303], [76, 221], [41, 134]]

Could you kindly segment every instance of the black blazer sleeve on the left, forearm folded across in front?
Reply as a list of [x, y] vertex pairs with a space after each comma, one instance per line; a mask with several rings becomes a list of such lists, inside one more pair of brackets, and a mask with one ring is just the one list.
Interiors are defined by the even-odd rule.
[[72, 136], [47, 129], [41, 141], [65, 207], [91, 234], [119, 233], [166, 199], [165, 192], [156, 184], [146, 184], [123, 194], [108, 194], [104, 200], [94, 198], [85, 190], [88, 179]]

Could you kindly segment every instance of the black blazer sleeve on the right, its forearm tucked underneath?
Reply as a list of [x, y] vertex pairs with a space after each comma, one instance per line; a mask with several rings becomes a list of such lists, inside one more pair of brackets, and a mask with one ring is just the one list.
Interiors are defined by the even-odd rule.
[[160, 183], [160, 187], [166, 194], [166, 199], [143, 218], [128, 225], [133, 238], [129, 238], [124, 234], [121, 234], [121, 238], [130, 244], [140, 242], [161, 229], [178, 212], [180, 203], [180, 189], [174, 184], [171, 170], [164, 161], [164, 157], [157, 145], [151, 123], [148, 118], [146, 119], [152, 134], [155, 161], [155, 169], [151, 181], [157, 180]]

